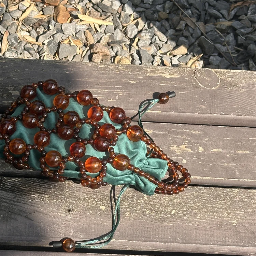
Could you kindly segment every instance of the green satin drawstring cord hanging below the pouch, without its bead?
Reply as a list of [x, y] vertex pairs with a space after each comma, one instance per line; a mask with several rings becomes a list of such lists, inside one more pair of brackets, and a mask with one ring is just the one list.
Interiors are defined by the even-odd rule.
[[[110, 198], [111, 198], [111, 211], [112, 211], [112, 230], [104, 237], [93, 239], [93, 240], [83, 240], [83, 241], [76, 241], [75, 248], [100, 248], [102, 246], [107, 245], [110, 243], [114, 236], [114, 232], [117, 229], [117, 226], [120, 222], [120, 199], [122, 195], [125, 193], [125, 190], [129, 187], [129, 184], [126, 184], [120, 190], [119, 196], [117, 200], [115, 199], [115, 186], [111, 187], [110, 190]], [[115, 211], [113, 212], [113, 203], [112, 197], [115, 203]], [[117, 215], [117, 218], [116, 218]]]

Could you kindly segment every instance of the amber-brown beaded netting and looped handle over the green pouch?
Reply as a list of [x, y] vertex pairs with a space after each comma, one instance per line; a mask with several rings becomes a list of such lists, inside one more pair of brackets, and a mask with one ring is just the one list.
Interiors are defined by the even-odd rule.
[[[54, 98], [54, 105], [49, 108], [45, 107], [44, 103], [39, 100], [31, 100], [37, 95], [38, 86], [42, 86], [43, 91], [48, 95], [58, 95]], [[80, 118], [79, 114], [75, 111], [68, 111], [64, 113], [63, 110], [69, 105], [69, 99], [74, 98], [81, 105], [93, 105], [88, 110], [88, 118]], [[166, 93], [161, 93], [158, 97], [158, 103], [164, 104], [169, 100], [169, 96]], [[17, 117], [9, 115], [20, 104], [25, 104], [23, 111]], [[98, 122], [103, 117], [103, 111], [109, 114], [112, 122], [121, 124], [122, 129], [116, 130], [112, 124], [104, 124], [100, 126]], [[44, 127], [45, 118], [48, 113], [57, 112], [59, 114], [58, 121], [54, 128], [46, 129]], [[27, 144], [19, 138], [10, 140], [16, 130], [16, 122], [22, 121], [26, 128], [40, 129], [34, 136], [34, 144]], [[15, 102], [11, 103], [11, 106], [5, 110], [1, 115], [1, 135], [0, 139], [5, 140], [4, 152], [5, 162], [11, 163], [16, 169], [29, 169], [28, 165], [29, 155], [31, 150], [38, 150], [41, 153], [40, 168], [42, 169], [42, 175], [48, 176], [52, 181], [65, 182], [67, 177], [65, 174], [66, 163], [68, 161], [74, 162], [80, 167], [81, 184], [92, 189], [97, 189], [101, 186], [106, 186], [107, 183], [103, 181], [106, 176], [108, 163], [112, 163], [117, 170], [130, 170], [139, 176], [144, 177], [153, 184], [157, 185], [155, 193], [163, 195], [179, 194], [190, 183], [191, 175], [186, 168], [179, 165], [178, 162], [170, 159], [160, 147], [156, 146], [151, 139], [148, 139], [143, 133], [143, 129], [140, 126], [130, 126], [131, 118], [127, 117], [125, 111], [121, 108], [104, 106], [99, 104], [97, 98], [93, 98], [93, 95], [88, 90], [74, 91], [73, 93], [66, 93], [64, 87], [59, 87], [54, 80], [47, 80], [45, 82], [39, 81], [32, 85], [26, 85], [20, 92], [20, 97]], [[90, 139], [84, 139], [79, 137], [80, 129], [84, 124], [93, 126], [94, 133]], [[70, 155], [68, 157], [62, 157], [57, 151], [46, 152], [44, 147], [50, 142], [50, 134], [57, 133], [63, 140], [69, 140], [74, 138], [74, 142], [70, 146]], [[147, 150], [149, 157], [161, 158], [168, 162], [169, 178], [167, 182], [159, 181], [149, 173], [145, 173], [138, 167], [133, 166], [130, 163], [128, 156], [123, 154], [116, 155], [113, 146], [116, 145], [118, 137], [122, 134], [127, 134], [127, 137], [131, 141], [142, 140], [146, 145], [150, 146]], [[81, 161], [81, 158], [85, 155], [85, 146], [90, 144], [100, 152], [108, 151], [109, 157], [107, 159], [98, 159], [97, 157], [89, 157], [85, 162]], [[21, 158], [14, 158], [11, 153], [20, 155], [24, 153]], [[59, 167], [58, 170], [50, 170], [49, 167]], [[180, 171], [182, 177], [179, 179]], [[87, 175], [86, 172], [99, 173], [96, 177]], [[182, 183], [183, 182], [183, 183]]]

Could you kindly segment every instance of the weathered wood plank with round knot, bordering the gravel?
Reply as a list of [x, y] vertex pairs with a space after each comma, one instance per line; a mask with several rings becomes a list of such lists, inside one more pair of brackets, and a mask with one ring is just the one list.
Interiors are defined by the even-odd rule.
[[104, 105], [120, 106], [128, 116], [156, 91], [177, 96], [155, 105], [145, 121], [256, 126], [254, 71], [102, 65], [65, 61], [0, 59], [1, 100], [9, 105], [28, 83], [53, 78], [71, 91], [89, 89]]

